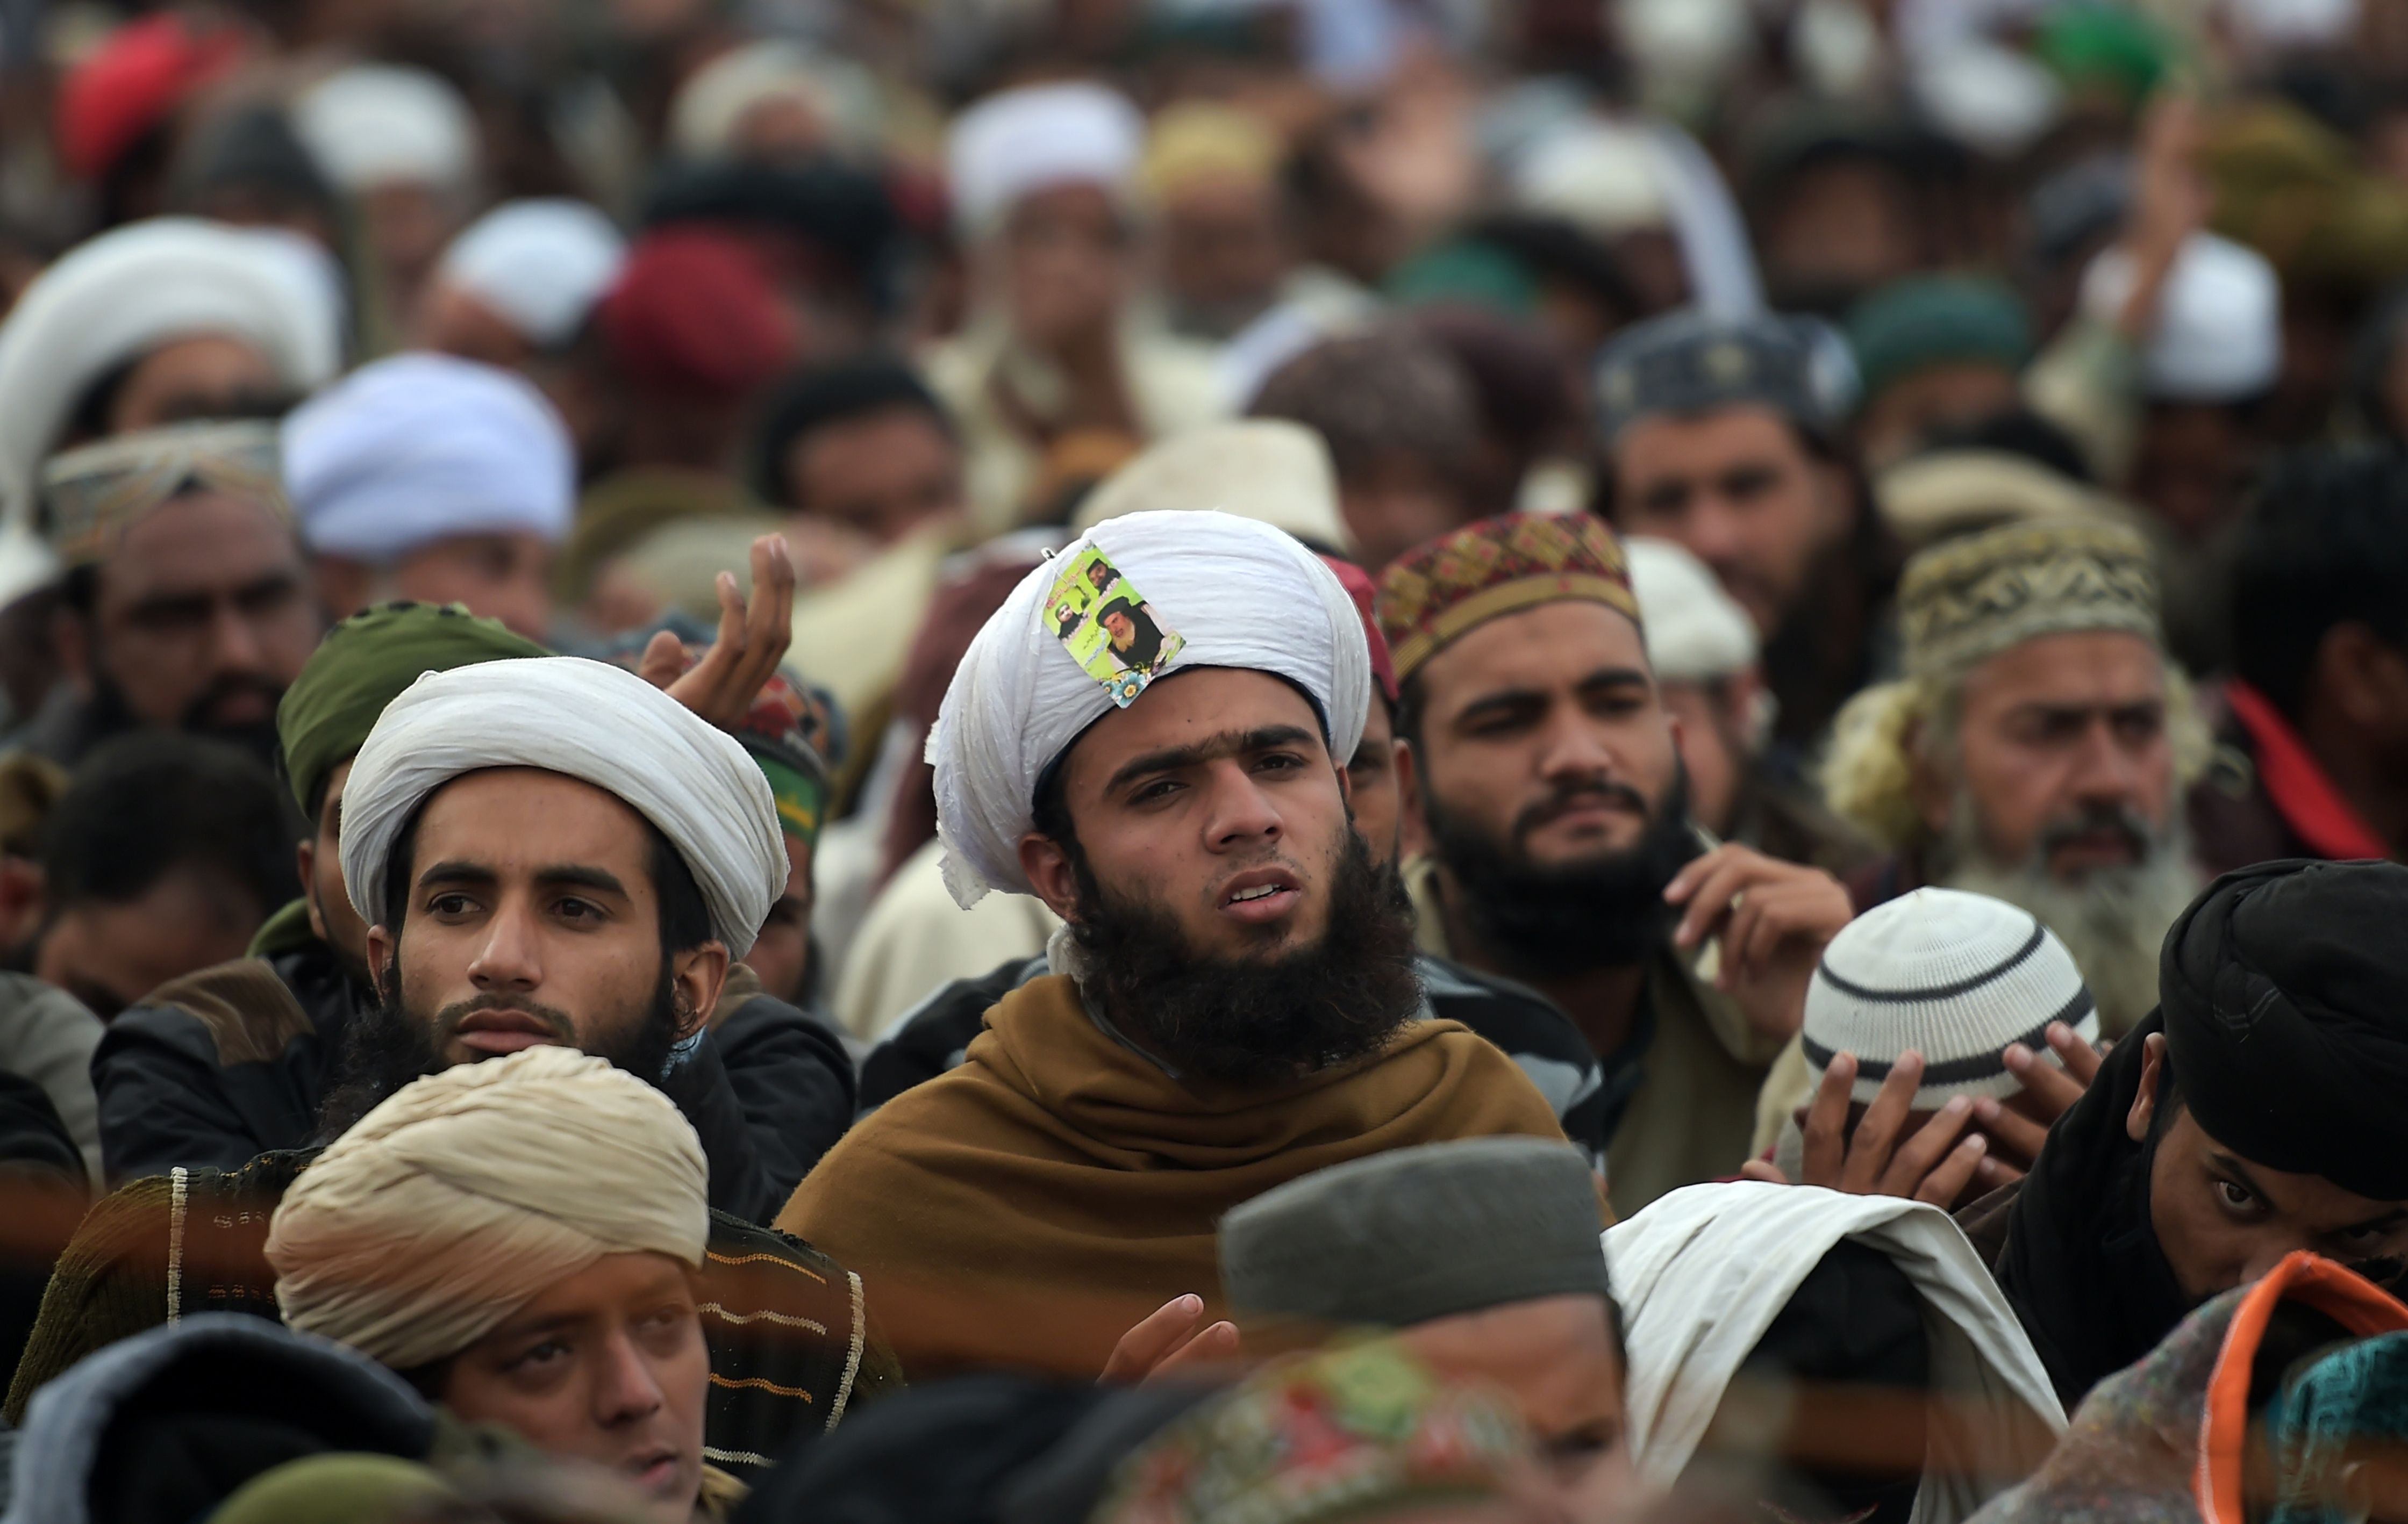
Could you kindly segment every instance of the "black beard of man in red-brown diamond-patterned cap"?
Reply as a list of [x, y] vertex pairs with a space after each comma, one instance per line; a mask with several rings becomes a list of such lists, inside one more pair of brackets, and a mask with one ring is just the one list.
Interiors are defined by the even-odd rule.
[[1483, 835], [1428, 792], [1423, 814], [1459, 891], [1450, 910], [1503, 973], [1541, 980], [1645, 963], [1678, 920], [1664, 888], [1705, 850], [1688, 819], [1688, 770], [1674, 775], [1633, 847], [1565, 864], [1531, 862], [1519, 840]]

